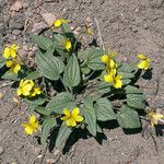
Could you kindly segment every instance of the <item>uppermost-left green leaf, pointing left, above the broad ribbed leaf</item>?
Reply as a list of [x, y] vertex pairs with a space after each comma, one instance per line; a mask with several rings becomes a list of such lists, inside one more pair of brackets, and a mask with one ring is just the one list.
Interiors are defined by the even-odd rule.
[[48, 50], [52, 47], [52, 42], [43, 35], [31, 35], [31, 38], [39, 48], [44, 50]]

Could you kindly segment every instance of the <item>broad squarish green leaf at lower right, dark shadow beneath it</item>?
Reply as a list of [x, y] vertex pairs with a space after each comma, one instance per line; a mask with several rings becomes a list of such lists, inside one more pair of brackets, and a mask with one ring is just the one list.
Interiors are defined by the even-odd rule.
[[141, 127], [138, 113], [130, 109], [128, 106], [121, 107], [117, 120], [119, 126], [125, 129], [134, 129]]

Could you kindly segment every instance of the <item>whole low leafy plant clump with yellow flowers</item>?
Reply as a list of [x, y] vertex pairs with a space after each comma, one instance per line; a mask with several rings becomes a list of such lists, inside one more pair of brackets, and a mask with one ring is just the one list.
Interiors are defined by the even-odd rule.
[[27, 102], [28, 109], [39, 114], [38, 120], [33, 115], [22, 126], [26, 134], [37, 132], [40, 126], [42, 144], [58, 148], [78, 130], [81, 136], [87, 131], [96, 138], [103, 127], [114, 124], [122, 129], [141, 128], [145, 97], [136, 82], [141, 70], [150, 68], [150, 59], [139, 55], [139, 63], [125, 63], [118, 61], [115, 51], [86, 48], [80, 38], [91, 32], [85, 26], [77, 36], [67, 20], [57, 20], [51, 38], [31, 36], [38, 46], [31, 67], [16, 45], [4, 48], [1, 78], [14, 81], [16, 95]]

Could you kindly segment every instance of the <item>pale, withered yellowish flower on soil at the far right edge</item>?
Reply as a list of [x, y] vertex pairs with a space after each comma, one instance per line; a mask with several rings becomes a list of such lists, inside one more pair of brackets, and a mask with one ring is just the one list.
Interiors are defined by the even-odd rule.
[[157, 125], [157, 120], [164, 119], [164, 115], [154, 112], [150, 112], [147, 117], [150, 120], [151, 126]]

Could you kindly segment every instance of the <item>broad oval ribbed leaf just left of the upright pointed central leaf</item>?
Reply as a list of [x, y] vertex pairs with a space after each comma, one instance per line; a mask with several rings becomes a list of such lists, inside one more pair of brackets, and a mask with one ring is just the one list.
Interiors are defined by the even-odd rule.
[[42, 74], [50, 80], [58, 80], [65, 67], [62, 60], [52, 56], [50, 51], [46, 54], [37, 52], [36, 63]]

